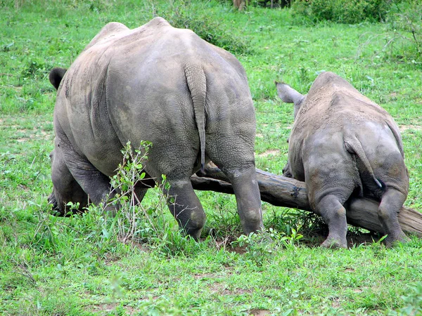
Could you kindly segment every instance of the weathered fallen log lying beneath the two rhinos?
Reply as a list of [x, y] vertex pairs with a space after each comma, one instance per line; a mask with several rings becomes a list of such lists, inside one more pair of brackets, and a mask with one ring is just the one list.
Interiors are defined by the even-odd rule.
[[[260, 169], [256, 169], [256, 171], [262, 201], [275, 206], [312, 211], [307, 199], [305, 183]], [[234, 194], [224, 173], [212, 164], [207, 164], [203, 171], [191, 176], [191, 183], [195, 190]], [[378, 219], [378, 205], [378, 201], [368, 197], [350, 198], [345, 203], [347, 223], [384, 234], [383, 226]], [[399, 213], [399, 223], [404, 232], [422, 237], [422, 213], [402, 207]]]

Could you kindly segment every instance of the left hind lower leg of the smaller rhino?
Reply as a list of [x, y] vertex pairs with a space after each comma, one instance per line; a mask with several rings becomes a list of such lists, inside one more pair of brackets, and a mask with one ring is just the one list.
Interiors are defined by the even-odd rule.
[[326, 248], [347, 248], [346, 209], [335, 195], [326, 195], [317, 205], [319, 213], [328, 225], [328, 237], [321, 244]]

